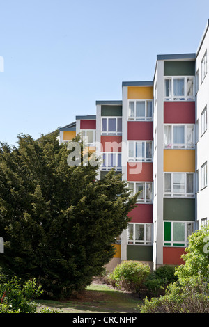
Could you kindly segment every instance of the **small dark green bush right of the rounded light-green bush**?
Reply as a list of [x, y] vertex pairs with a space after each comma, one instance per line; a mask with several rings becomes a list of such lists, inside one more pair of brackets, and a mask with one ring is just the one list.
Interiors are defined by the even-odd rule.
[[144, 286], [148, 289], [150, 296], [163, 295], [167, 285], [175, 282], [175, 266], [160, 266], [146, 278]]

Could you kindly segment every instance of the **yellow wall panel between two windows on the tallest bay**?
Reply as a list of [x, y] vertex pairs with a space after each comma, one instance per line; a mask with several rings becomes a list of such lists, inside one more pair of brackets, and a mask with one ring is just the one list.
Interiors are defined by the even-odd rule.
[[164, 150], [164, 171], [194, 172], [195, 150]]

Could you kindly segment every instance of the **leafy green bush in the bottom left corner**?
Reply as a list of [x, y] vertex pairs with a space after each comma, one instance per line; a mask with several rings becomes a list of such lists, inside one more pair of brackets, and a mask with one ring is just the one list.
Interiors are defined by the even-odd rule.
[[36, 280], [29, 280], [21, 285], [15, 276], [0, 285], [0, 313], [34, 313], [36, 303], [32, 299], [38, 298], [42, 291]]

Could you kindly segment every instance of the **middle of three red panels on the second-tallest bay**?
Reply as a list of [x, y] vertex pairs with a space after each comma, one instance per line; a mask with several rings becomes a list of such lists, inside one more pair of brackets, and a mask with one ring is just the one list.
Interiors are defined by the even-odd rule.
[[152, 162], [128, 162], [127, 180], [139, 182], [153, 182]]

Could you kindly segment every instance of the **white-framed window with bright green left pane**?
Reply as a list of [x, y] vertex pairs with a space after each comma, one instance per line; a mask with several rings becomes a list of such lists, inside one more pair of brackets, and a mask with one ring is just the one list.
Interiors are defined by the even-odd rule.
[[164, 246], [188, 246], [194, 221], [164, 221]]

